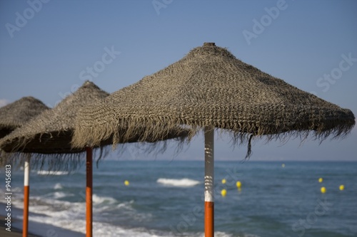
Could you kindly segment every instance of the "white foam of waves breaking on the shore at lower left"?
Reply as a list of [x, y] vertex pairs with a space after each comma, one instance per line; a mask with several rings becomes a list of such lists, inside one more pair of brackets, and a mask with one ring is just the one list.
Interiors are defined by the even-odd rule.
[[[58, 192], [61, 193], [61, 192]], [[95, 194], [94, 194], [95, 195]], [[96, 196], [96, 195], [95, 195]], [[105, 196], [96, 196], [98, 200], [110, 200], [111, 198]], [[78, 231], [81, 233], [86, 233], [86, 204], [84, 202], [69, 202], [61, 201], [56, 199], [45, 198], [44, 196], [32, 196], [31, 199], [36, 200], [34, 205], [29, 206], [29, 211], [35, 214], [42, 215], [29, 215], [29, 221], [36, 221], [38, 223], [46, 223], [52, 226], [57, 226], [59, 228], [68, 229], [70, 231]], [[14, 200], [15, 201], [15, 200]], [[22, 208], [22, 201], [15, 201], [16, 207]], [[117, 204], [116, 207], [120, 209], [131, 209], [129, 213], [138, 217], [138, 221], [141, 221], [142, 218], [148, 219], [152, 216], [146, 215], [141, 216], [141, 214], [134, 211], [131, 208], [131, 204], [134, 203], [134, 200], [126, 201], [120, 204]], [[60, 207], [60, 210], [54, 211], [54, 207]], [[99, 216], [97, 209], [94, 207], [94, 218]], [[16, 216], [17, 218], [22, 218], [22, 216]], [[102, 223], [99, 221], [93, 222], [93, 235], [94, 236], [115, 236], [124, 237], [173, 237], [176, 234], [167, 232], [167, 231], [154, 231], [148, 230], [146, 228], [123, 228], [122, 226], [114, 226], [109, 223]], [[204, 233], [185, 233], [187, 237], [203, 237]], [[218, 237], [232, 237], [231, 235], [223, 232], [215, 232], [215, 236]], [[244, 236], [246, 237], [246, 236]], [[253, 237], [253, 236], [249, 236]]]

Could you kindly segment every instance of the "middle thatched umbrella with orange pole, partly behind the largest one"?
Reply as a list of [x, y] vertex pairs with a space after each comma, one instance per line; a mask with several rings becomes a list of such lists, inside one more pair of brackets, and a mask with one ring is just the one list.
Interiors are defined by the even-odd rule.
[[[54, 165], [57, 166], [68, 159], [76, 162], [76, 157], [86, 151], [86, 236], [92, 235], [92, 147], [111, 144], [113, 137], [116, 136], [102, 139], [98, 144], [87, 143], [83, 147], [71, 147], [71, 139], [74, 132], [74, 120], [81, 107], [100, 102], [108, 95], [94, 83], [87, 81], [73, 95], [69, 95], [52, 110], [43, 112], [21, 129], [0, 139], [0, 147], [8, 152], [36, 153], [38, 159], [52, 157], [54, 159], [51, 159], [51, 162], [55, 162]], [[145, 141], [156, 142], [161, 139], [182, 138], [186, 135], [186, 130], [176, 126], [165, 135], [146, 137]], [[137, 142], [139, 139], [140, 135], [134, 135], [126, 142]]]

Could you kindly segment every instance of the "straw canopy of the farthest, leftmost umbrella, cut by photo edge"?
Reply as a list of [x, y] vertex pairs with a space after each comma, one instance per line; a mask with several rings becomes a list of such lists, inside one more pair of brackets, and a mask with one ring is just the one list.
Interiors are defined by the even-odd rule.
[[49, 107], [31, 96], [16, 100], [0, 108], [0, 138], [8, 135], [12, 130], [21, 127], [32, 117], [39, 115]]

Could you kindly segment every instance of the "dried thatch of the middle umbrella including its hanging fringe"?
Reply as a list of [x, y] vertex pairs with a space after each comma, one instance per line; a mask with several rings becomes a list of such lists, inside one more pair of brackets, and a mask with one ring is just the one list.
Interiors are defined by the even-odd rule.
[[[83, 147], [71, 147], [74, 132], [74, 121], [77, 112], [86, 105], [104, 100], [109, 94], [98, 88], [94, 83], [86, 81], [74, 94], [69, 95], [51, 110], [42, 112], [39, 116], [14, 130], [10, 135], [0, 139], [0, 148], [6, 152], [14, 152], [14, 157], [21, 153], [32, 153], [33, 166], [46, 165], [46, 169], [76, 169], [85, 151]], [[186, 137], [187, 130], [176, 126], [162, 139]], [[126, 142], [137, 142], [140, 135], [133, 135]], [[111, 144], [112, 137], [103, 139], [93, 147]], [[146, 142], [156, 142], [158, 139], [147, 137]], [[120, 139], [120, 142], [122, 139]], [[103, 152], [101, 150], [101, 152]], [[17, 153], [17, 154], [16, 154]], [[101, 156], [99, 156], [101, 157]], [[100, 159], [100, 158], [99, 158]], [[22, 162], [22, 161], [21, 161]]]

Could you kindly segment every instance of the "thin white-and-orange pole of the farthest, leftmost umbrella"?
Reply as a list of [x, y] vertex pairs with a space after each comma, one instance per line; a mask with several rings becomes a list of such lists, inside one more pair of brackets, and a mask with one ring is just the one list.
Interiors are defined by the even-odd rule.
[[26, 154], [24, 164], [24, 218], [22, 222], [22, 237], [27, 237], [29, 233], [30, 157], [31, 154]]

